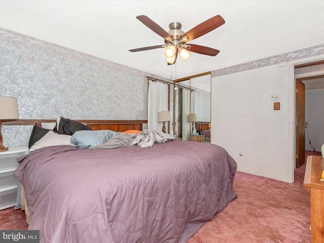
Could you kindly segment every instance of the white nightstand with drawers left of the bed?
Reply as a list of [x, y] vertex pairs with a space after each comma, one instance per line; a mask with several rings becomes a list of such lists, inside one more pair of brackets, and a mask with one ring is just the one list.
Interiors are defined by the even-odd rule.
[[17, 158], [28, 153], [28, 147], [12, 147], [0, 152], [0, 210], [16, 205], [19, 181], [13, 174], [19, 166]]

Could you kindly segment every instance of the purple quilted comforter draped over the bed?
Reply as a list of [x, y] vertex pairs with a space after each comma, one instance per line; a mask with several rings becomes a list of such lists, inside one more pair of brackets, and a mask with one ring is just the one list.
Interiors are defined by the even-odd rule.
[[236, 163], [214, 144], [62, 145], [18, 161], [41, 242], [186, 242], [236, 197]]

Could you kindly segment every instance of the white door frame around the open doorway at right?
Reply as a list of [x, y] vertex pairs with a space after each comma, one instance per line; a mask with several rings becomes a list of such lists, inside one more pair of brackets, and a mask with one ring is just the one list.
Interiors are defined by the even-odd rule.
[[[294, 182], [294, 170], [296, 166], [296, 82], [295, 65], [307, 64], [315, 61], [323, 61], [324, 55], [307, 57], [287, 62], [288, 64], [288, 182]], [[309, 73], [305, 76], [309, 76]], [[300, 78], [301, 76], [298, 75]]]

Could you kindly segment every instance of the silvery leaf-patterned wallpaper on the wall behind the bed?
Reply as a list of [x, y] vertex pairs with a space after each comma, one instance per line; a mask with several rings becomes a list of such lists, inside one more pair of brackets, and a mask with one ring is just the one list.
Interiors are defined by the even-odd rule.
[[[147, 78], [127, 66], [0, 28], [0, 94], [20, 119], [147, 119]], [[32, 126], [3, 126], [5, 146], [26, 146]]]

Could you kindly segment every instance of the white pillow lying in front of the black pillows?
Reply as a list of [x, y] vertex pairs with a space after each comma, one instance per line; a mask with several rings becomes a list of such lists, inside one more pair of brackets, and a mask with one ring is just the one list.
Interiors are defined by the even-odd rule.
[[35, 142], [34, 145], [30, 147], [29, 151], [55, 145], [75, 146], [73, 143], [71, 143], [71, 137], [72, 136], [70, 135], [62, 135], [54, 133], [53, 131], [49, 131], [47, 134], [44, 135], [43, 138]]

